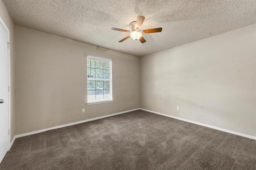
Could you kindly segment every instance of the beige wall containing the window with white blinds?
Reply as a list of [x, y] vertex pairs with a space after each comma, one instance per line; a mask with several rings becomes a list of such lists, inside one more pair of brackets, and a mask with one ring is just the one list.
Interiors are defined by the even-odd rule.
[[[16, 135], [140, 107], [139, 57], [18, 25], [15, 36]], [[87, 55], [112, 59], [114, 102], [86, 105]]]

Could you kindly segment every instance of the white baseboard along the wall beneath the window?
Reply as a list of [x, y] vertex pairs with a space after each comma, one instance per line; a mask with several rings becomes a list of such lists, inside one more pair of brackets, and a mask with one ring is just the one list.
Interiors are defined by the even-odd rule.
[[[114, 116], [114, 115], [119, 115], [119, 114], [122, 114], [122, 113], [127, 113], [127, 112], [130, 112], [130, 111], [135, 111], [135, 110], [139, 110], [140, 108], [138, 109], [132, 109], [132, 110], [127, 110], [127, 111], [122, 111], [122, 112], [119, 112], [119, 113], [114, 113], [114, 114], [111, 114], [111, 115], [105, 115], [105, 116], [101, 116], [101, 117], [95, 117], [95, 118], [92, 118], [92, 119], [87, 119], [87, 120], [83, 120], [83, 121], [77, 121], [77, 122], [74, 122], [74, 123], [68, 123], [68, 124], [65, 124], [65, 125], [60, 125], [60, 126], [55, 126], [55, 127], [50, 127], [50, 128], [47, 128], [47, 129], [42, 129], [42, 130], [39, 130], [39, 131], [34, 131], [34, 132], [29, 132], [29, 133], [23, 133], [23, 134], [20, 134], [20, 135], [16, 135], [14, 138], [19, 138], [19, 137], [24, 137], [24, 136], [28, 136], [28, 135], [33, 135], [33, 134], [36, 134], [36, 133], [41, 133], [41, 132], [45, 132], [45, 131], [50, 131], [52, 129], [58, 129], [58, 128], [62, 128], [62, 127], [67, 127], [67, 126], [72, 126], [72, 125], [76, 125], [76, 124], [80, 124], [80, 123], [84, 123], [84, 122], [88, 122], [88, 121], [93, 121], [93, 120], [97, 120], [97, 119], [102, 119], [102, 118], [105, 118], [105, 117], [110, 117], [110, 116]], [[14, 140], [15, 140], [14, 139]]]

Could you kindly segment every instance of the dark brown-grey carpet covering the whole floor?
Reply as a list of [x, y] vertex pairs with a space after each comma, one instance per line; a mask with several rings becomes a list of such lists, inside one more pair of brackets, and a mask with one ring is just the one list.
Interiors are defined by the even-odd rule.
[[256, 140], [138, 110], [17, 138], [0, 169], [256, 169]]

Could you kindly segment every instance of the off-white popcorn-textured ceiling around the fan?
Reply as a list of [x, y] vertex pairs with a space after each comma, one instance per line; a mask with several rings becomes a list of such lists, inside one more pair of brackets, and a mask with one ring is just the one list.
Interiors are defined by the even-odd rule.
[[[3, 0], [14, 24], [135, 56], [155, 53], [256, 23], [255, 0]], [[137, 16], [146, 43], [129, 33]]]

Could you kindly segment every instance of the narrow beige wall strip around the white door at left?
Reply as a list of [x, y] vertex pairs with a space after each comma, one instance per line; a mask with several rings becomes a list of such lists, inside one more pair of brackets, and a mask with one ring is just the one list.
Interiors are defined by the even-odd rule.
[[11, 84], [10, 84], [10, 96], [11, 96], [11, 141], [15, 136], [15, 39], [14, 39], [14, 23], [10, 18], [4, 3], [0, 0], [0, 17], [4, 21], [5, 25], [10, 31], [10, 73], [11, 73]]

